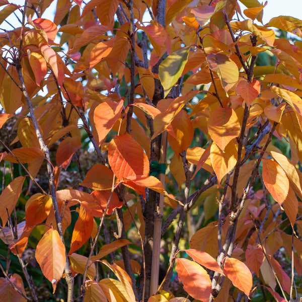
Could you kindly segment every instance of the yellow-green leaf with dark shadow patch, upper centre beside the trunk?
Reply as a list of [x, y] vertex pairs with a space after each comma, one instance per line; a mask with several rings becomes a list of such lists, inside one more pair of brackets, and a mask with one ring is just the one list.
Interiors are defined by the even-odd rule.
[[177, 49], [160, 64], [159, 76], [165, 90], [165, 97], [181, 77], [188, 60], [189, 50], [189, 48]]

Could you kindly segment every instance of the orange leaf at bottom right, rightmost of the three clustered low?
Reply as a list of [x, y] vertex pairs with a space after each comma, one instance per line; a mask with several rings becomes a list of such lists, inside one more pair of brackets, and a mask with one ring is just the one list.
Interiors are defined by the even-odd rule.
[[223, 272], [234, 286], [249, 296], [253, 286], [253, 277], [251, 271], [243, 262], [235, 258], [225, 258]]

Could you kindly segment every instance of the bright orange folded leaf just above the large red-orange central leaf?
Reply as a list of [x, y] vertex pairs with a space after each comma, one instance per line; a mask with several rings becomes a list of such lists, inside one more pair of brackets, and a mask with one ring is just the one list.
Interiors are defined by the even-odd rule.
[[99, 144], [106, 138], [115, 122], [121, 115], [123, 101], [114, 103], [112, 101], [101, 103], [94, 110], [94, 123], [99, 136]]

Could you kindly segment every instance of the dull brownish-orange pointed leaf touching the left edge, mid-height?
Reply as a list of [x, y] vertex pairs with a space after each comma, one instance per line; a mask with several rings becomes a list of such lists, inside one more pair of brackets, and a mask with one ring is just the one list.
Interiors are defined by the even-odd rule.
[[3, 227], [9, 219], [8, 214], [11, 215], [18, 202], [24, 180], [24, 176], [15, 178], [0, 195], [0, 218]]

